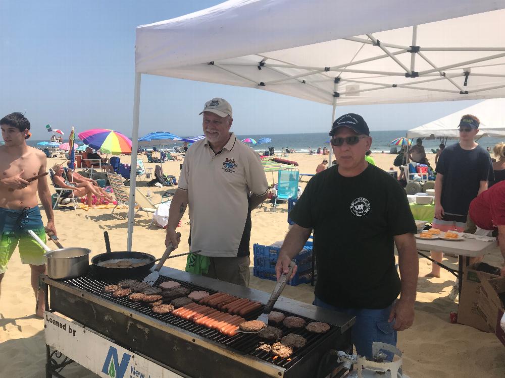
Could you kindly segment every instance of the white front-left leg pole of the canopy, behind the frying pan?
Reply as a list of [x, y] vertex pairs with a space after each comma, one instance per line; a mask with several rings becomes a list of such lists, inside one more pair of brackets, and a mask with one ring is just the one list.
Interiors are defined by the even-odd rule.
[[135, 92], [133, 95], [133, 125], [131, 133], [130, 164], [130, 202], [128, 204], [128, 238], [126, 250], [131, 251], [133, 225], [135, 222], [135, 186], [137, 178], [138, 117], [140, 113], [140, 73], [135, 73]]

